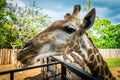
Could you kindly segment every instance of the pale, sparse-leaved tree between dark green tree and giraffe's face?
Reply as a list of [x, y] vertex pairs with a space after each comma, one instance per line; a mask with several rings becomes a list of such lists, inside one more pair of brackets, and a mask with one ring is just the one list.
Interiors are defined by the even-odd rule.
[[37, 7], [35, 2], [31, 3], [31, 7], [26, 6], [22, 8], [17, 6], [17, 4], [15, 6], [11, 4], [8, 6], [17, 16], [14, 28], [17, 30], [18, 38], [16, 38], [16, 41], [11, 42], [13, 45], [21, 47], [22, 44], [36, 36], [42, 28], [50, 24], [48, 15], [43, 14], [41, 8]]

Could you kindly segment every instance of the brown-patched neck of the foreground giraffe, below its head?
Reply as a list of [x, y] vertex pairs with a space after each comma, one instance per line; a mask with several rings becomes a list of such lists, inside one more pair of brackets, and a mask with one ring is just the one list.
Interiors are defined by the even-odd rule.
[[107, 63], [93, 44], [91, 38], [84, 34], [80, 40], [80, 52], [84, 62], [87, 64], [93, 75], [97, 75], [105, 80], [115, 80], [110, 72]]

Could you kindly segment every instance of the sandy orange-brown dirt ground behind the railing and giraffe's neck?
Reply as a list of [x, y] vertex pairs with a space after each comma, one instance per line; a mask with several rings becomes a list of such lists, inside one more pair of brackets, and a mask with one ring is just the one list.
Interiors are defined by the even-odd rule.
[[[4, 65], [0, 66], [0, 72], [15, 69], [13, 65]], [[120, 67], [111, 69], [113, 75], [116, 77], [117, 80], [120, 80]], [[22, 72], [17, 72], [14, 74], [15, 80], [40, 80], [41, 79], [41, 69], [32, 69], [32, 70], [25, 70]], [[10, 75], [0, 75], [0, 80], [10, 80]]]

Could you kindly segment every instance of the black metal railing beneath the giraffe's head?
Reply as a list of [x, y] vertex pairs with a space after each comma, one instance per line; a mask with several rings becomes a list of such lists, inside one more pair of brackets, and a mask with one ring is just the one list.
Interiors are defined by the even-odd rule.
[[83, 80], [102, 80], [101, 78], [99, 78], [97, 76], [93, 76], [92, 74], [90, 74], [90, 73], [88, 73], [88, 72], [86, 72], [86, 71], [84, 71], [84, 70], [82, 70], [82, 69], [80, 69], [80, 68], [78, 68], [78, 67], [76, 67], [72, 64], [60, 61], [56, 58], [53, 58], [53, 59], [56, 60], [57, 62], [47, 63], [47, 64], [43, 64], [43, 65], [39, 65], [39, 66], [26, 67], [26, 68], [21, 68], [21, 69], [4, 71], [4, 72], [0, 72], [0, 75], [10, 74], [10, 80], [14, 80], [14, 73], [16, 73], [16, 72], [21, 72], [21, 71], [24, 71], [24, 70], [30, 70], [30, 69], [35, 69], [35, 68], [42, 68], [42, 67], [47, 67], [46, 70], [49, 71], [49, 68], [48, 68], [49, 66], [61, 64], [61, 72], [60, 73], [57, 73], [53, 76], [45, 77], [42, 80], [49, 80], [50, 78], [60, 76], [60, 75], [61, 75], [61, 80], [69, 80], [66, 77], [67, 76], [67, 70], [76, 74], [78, 77], [82, 78]]

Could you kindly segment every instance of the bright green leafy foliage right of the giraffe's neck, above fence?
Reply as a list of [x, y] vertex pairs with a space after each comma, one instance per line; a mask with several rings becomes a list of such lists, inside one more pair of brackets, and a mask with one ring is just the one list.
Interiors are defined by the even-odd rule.
[[109, 19], [97, 18], [88, 32], [98, 48], [120, 48], [120, 24], [113, 25]]

